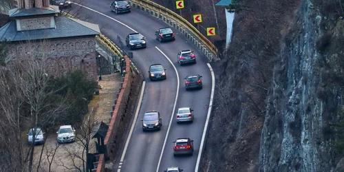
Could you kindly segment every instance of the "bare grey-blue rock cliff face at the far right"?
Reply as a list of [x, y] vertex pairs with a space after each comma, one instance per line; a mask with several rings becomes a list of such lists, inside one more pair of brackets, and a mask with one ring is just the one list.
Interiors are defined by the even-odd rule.
[[259, 171], [335, 169], [344, 93], [343, 11], [335, 10], [344, 6], [338, 2], [301, 2], [273, 72]]

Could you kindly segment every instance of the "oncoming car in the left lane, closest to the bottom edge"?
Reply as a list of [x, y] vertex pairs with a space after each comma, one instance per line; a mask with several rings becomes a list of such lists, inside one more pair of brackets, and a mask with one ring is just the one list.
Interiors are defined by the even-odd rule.
[[146, 111], [142, 120], [142, 131], [160, 130], [162, 126], [162, 118], [159, 111]]

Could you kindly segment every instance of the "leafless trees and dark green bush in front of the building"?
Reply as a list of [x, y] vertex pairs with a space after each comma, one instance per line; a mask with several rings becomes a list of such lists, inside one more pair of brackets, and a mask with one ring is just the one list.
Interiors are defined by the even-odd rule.
[[[3, 63], [0, 68], [1, 171], [39, 171], [40, 162], [38, 167], [33, 164], [34, 144], [28, 145], [25, 135], [28, 129], [41, 127], [49, 134], [58, 125], [80, 128], [96, 86], [80, 70], [55, 76], [44, 61], [31, 56], [20, 63]], [[50, 155], [50, 161], [54, 151], [45, 153]], [[42, 155], [43, 151], [41, 158]]]

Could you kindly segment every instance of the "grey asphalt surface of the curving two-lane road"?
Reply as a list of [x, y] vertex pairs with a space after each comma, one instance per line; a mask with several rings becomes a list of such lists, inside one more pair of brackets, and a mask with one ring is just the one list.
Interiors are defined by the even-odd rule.
[[[125, 151], [124, 160], [120, 162], [122, 150], [118, 158], [116, 158], [116, 162], [114, 162], [114, 171], [155, 172], [159, 162], [160, 167], [158, 171], [164, 171], [169, 166], [180, 166], [185, 172], [195, 171], [211, 96], [211, 72], [206, 65], [206, 57], [201, 52], [198, 52], [195, 46], [188, 43], [187, 39], [177, 30], [175, 30], [175, 41], [159, 43], [158, 40], [155, 40], [154, 32], [158, 28], [168, 27], [168, 25], [134, 8], [132, 8], [130, 13], [115, 14], [110, 10], [110, 3], [112, 1], [109, 0], [85, 1], [80, 4], [85, 8], [80, 10], [78, 15], [80, 17], [87, 17], [89, 22], [100, 25], [101, 32], [114, 42], [116, 42], [117, 35], [124, 41], [127, 34], [131, 32], [139, 32], [147, 39], [147, 48], [145, 49], [129, 50], [126, 47], [128, 52], [133, 52], [132, 60], [138, 65], [147, 82], [138, 118], [136, 121], [133, 121], [135, 127]], [[118, 21], [121, 23], [118, 23]], [[189, 49], [194, 50], [197, 64], [178, 65], [178, 51]], [[166, 80], [149, 80], [148, 69], [149, 65], [153, 63], [160, 63], [166, 68]], [[188, 74], [202, 75], [203, 89], [186, 92], [184, 77]], [[175, 109], [173, 109], [174, 106]], [[177, 124], [175, 121], [175, 111], [178, 107], [191, 107], [194, 109], [194, 122]], [[160, 111], [162, 129], [160, 131], [142, 132], [142, 122], [140, 119], [142, 119], [145, 111], [151, 110]], [[173, 119], [171, 120], [172, 114]], [[169, 129], [166, 145], [163, 149], [170, 121], [171, 128]], [[173, 141], [176, 138], [183, 137], [189, 137], [194, 140], [195, 149], [193, 156], [173, 157]], [[126, 140], [123, 140], [123, 144], [125, 142]]]

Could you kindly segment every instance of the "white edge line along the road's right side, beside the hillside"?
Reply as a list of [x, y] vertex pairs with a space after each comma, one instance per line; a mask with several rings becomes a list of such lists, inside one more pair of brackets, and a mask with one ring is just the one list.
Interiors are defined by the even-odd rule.
[[208, 65], [209, 70], [211, 71], [211, 100], [209, 101], [208, 114], [206, 115], [206, 124], [204, 125], [204, 129], [203, 129], [203, 135], [202, 135], [200, 150], [198, 151], [195, 172], [198, 172], [198, 169], [200, 168], [200, 161], [202, 157], [204, 141], [206, 139], [206, 130], [208, 129], [208, 123], [211, 117], [211, 109], [213, 108], [213, 98], [214, 98], [214, 90], [215, 90], [215, 76], [214, 76], [213, 67], [211, 67], [211, 64], [209, 63], [206, 63], [206, 65]]

